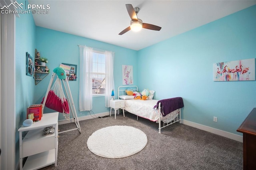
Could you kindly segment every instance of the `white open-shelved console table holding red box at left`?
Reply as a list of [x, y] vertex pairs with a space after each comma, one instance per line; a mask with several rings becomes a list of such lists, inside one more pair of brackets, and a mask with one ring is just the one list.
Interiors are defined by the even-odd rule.
[[[23, 166], [27, 169], [40, 169], [51, 164], [57, 166], [58, 154], [58, 112], [45, 113], [42, 119], [33, 123], [29, 127], [20, 127], [20, 170], [22, 170], [22, 160], [27, 157]], [[45, 127], [54, 126], [53, 134], [43, 135]], [[22, 132], [28, 131], [22, 139]]]

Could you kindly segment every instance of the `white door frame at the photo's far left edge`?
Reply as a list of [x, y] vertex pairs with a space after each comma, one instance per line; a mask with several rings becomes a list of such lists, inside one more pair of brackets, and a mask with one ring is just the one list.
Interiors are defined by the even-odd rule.
[[[13, 0], [1, 0], [0, 6]], [[16, 16], [1, 14], [1, 110], [0, 110], [0, 169], [15, 170], [15, 134], [16, 134], [16, 73], [15, 73], [15, 29]]]

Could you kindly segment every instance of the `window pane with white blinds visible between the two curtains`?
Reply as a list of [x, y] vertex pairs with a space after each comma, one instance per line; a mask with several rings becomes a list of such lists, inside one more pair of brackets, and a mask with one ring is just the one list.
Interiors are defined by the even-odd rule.
[[106, 91], [105, 54], [92, 52], [92, 95], [104, 95]]

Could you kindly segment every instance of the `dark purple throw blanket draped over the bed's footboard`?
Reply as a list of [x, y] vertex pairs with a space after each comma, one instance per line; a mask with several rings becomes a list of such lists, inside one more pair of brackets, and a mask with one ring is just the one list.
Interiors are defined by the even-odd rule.
[[156, 103], [154, 109], [158, 109], [159, 102], [161, 103], [161, 113], [163, 116], [168, 115], [169, 113], [184, 107], [183, 99], [181, 97], [174, 97], [170, 99], [162, 99]]

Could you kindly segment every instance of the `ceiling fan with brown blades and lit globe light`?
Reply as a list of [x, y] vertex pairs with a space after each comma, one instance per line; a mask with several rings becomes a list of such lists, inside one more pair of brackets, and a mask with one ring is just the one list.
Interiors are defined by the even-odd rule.
[[137, 14], [140, 11], [140, 8], [138, 8], [138, 7], [133, 8], [132, 4], [126, 4], [125, 6], [128, 11], [128, 14], [132, 20], [131, 20], [130, 26], [128, 26], [126, 29], [122, 30], [122, 32], [120, 32], [118, 35], [123, 35], [124, 33], [128, 32], [129, 30], [139, 31], [142, 28], [146, 28], [149, 30], [156, 30], [156, 31], [161, 30], [161, 27], [159, 27], [159, 26], [143, 23], [142, 20], [138, 19]]

